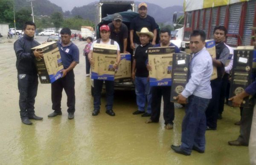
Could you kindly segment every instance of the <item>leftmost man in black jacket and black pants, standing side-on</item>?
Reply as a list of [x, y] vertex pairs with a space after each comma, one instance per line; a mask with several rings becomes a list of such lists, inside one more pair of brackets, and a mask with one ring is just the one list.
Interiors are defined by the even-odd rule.
[[38, 90], [38, 75], [35, 67], [35, 58], [43, 56], [41, 51], [31, 52], [31, 48], [40, 45], [34, 40], [35, 23], [27, 21], [24, 26], [24, 37], [14, 43], [17, 57], [18, 89], [20, 92], [19, 106], [21, 122], [32, 125], [29, 119], [41, 120], [43, 117], [35, 115], [35, 97]]

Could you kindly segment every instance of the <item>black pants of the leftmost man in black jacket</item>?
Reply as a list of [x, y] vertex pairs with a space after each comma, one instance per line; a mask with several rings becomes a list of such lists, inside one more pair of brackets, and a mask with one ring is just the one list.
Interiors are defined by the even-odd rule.
[[35, 114], [35, 97], [38, 90], [36, 74], [18, 74], [18, 89], [20, 92], [20, 118], [31, 117]]

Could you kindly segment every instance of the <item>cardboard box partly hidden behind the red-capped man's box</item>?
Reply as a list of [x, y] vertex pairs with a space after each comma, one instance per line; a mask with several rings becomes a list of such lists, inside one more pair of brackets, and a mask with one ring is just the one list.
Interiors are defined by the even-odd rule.
[[121, 61], [115, 73], [115, 83], [131, 81], [131, 54], [121, 53]]

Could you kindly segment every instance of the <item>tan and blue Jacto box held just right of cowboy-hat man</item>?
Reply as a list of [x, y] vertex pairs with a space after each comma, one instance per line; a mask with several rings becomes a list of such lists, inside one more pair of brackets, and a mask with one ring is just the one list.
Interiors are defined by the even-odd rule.
[[172, 54], [174, 46], [148, 48], [150, 86], [172, 85]]

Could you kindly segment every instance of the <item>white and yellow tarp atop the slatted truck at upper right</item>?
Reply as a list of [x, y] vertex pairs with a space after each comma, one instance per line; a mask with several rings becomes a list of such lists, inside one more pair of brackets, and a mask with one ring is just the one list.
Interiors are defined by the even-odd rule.
[[217, 6], [230, 5], [233, 3], [245, 2], [250, 0], [184, 0], [184, 11], [193, 11]]

